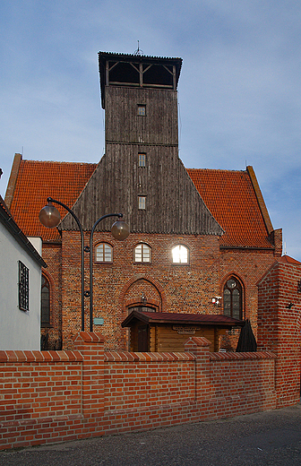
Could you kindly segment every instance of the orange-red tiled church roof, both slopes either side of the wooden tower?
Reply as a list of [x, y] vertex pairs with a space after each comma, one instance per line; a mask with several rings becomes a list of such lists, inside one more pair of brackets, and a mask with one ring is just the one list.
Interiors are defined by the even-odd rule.
[[[39, 223], [40, 209], [48, 196], [72, 207], [96, 167], [94, 163], [21, 160], [10, 210], [25, 235], [59, 240], [56, 229]], [[225, 230], [220, 246], [273, 247], [248, 171], [188, 168], [187, 172]], [[64, 218], [66, 212], [58, 209]]]

